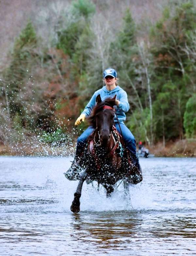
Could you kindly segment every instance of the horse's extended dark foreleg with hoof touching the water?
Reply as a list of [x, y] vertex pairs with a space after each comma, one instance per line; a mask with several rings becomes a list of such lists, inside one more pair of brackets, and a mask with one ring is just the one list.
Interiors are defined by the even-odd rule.
[[77, 189], [74, 193], [74, 200], [70, 207], [70, 210], [74, 213], [80, 211], [80, 197], [81, 197], [81, 192], [82, 192], [82, 185], [83, 185], [84, 181], [86, 180], [86, 177], [87, 177], [87, 173], [86, 173], [86, 169], [85, 169], [84, 172], [82, 172], [80, 174], [80, 180], [79, 180]]

